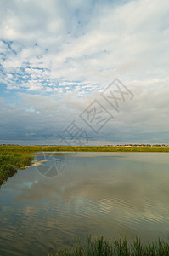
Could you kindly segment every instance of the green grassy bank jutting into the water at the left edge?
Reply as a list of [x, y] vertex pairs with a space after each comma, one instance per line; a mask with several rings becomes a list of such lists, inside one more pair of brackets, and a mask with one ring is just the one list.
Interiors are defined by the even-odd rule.
[[18, 169], [24, 169], [31, 165], [33, 156], [25, 154], [13, 154], [8, 151], [0, 151], [0, 185], [8, 177], [12, 177]]

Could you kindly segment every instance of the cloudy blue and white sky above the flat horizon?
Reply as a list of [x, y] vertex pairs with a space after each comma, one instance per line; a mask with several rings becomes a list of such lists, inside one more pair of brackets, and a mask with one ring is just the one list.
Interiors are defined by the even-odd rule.
[[0, 143], [169, 144], [168, 0], [0, 0]]

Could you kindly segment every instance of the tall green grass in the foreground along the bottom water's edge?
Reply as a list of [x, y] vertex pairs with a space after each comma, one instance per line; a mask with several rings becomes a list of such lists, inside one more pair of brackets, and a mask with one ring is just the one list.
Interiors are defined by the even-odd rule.
[[79, 244], [73, 250], [65, 249], [55, 254], [48, 256], [145, 256], [145, 255], [169, 255], [169, 242], [158, 241], [143, 244], [136, 238], [131, 244], [127, 240], [115, 240], [112, 243], [104, 240], [103, 237], [92, 241], [91, 236], [88, 236], [87, 245]]

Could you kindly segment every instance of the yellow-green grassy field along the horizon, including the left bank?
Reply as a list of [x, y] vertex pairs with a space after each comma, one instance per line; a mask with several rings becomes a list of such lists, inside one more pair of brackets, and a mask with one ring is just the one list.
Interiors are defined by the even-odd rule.
[[169, 152], [169, 147], [127, 146], [19, 146], [0, 145], [0, 185], [18, 169], [30, 166], [37, 152]]

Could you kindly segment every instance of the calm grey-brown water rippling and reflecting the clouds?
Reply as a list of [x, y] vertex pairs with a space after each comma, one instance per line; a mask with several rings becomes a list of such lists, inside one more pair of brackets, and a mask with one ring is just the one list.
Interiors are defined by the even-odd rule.
[[0, 189], [0, 255], [48, 255], [87, 234], [166, 239], [168, 156], [66, 154], [56, 177], [42, 176], [36, 166], [18, 171]]

